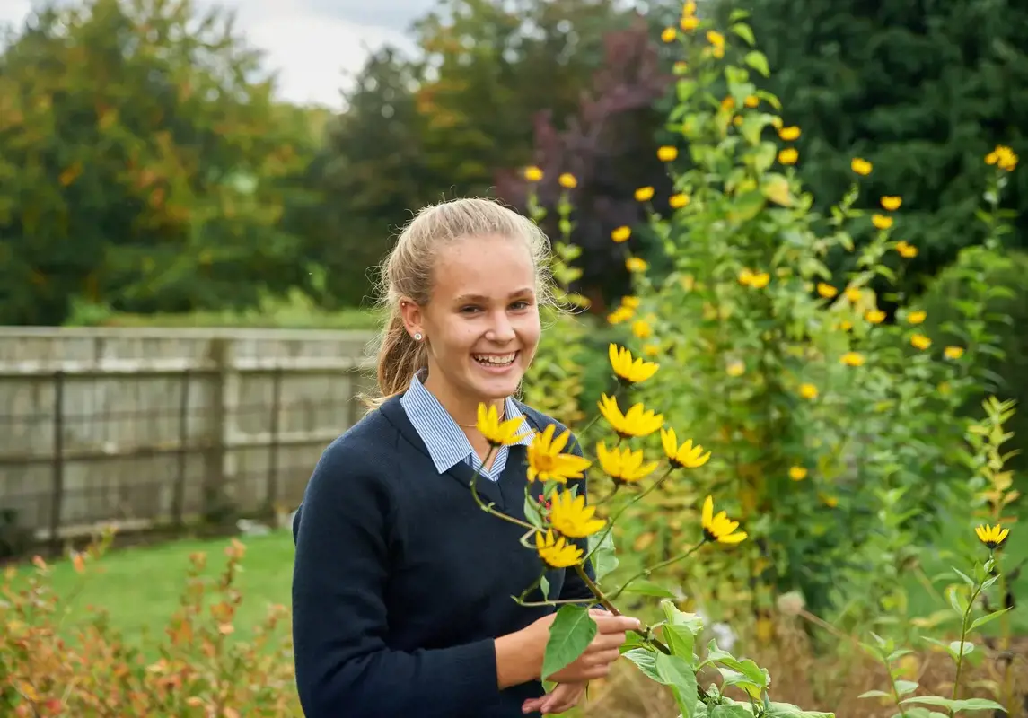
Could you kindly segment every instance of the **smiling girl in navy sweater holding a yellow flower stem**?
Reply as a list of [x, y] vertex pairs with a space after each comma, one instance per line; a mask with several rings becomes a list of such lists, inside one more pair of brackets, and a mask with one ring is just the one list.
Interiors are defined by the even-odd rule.
[[[469, 488], [478, 468], [483, 500], [524, 519], [530, 438], [483, 465], [488, 445], [475, 419], [486, 403], [525, 428], [556, 423], [512, 399], [550, 301], [548, 249], [517, 213], [460, 199], [421, 211], [387, 259], [381, 396], [326, 449], [293, 526], [293, 641], [307, 718], [562, 712], [638, 628], [594, 610], [596, 638], [546, 694], [553, 608], [512, 598], [541, 561], [518, 542], [522, 529], [480, 511]], [[547, 577], [551, 597], [590, 596], [572, 570]]]

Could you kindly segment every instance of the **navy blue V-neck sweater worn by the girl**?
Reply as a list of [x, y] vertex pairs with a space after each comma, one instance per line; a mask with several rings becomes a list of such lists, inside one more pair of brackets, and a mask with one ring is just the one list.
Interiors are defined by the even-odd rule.
[[[539, 430], [556, 423], [518, 406]], [[525, 448], [510, 451], [500, 481], [476, 486], [523, 519]], [[515, 603], [543, 564], [518, 542], [521, 528], [477, 507], [472, 474], [464, 463], [438, 474], [398, 398], [326, 449], [293, 524], [293, 643], [307, 718], [513, 718], [543, 694], [538, 680], [498, 687], [493, 639], [553, 608]], [[547, 579], [551, 597], [590, 596], [574, 570]]]

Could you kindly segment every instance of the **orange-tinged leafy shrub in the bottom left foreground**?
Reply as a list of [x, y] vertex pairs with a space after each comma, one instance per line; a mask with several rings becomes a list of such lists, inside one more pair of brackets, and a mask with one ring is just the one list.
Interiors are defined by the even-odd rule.
[[[111, 535], [75, 554], [88, 574]], [[279, 628], [284, 606], [272, 606], [250, 641], [233, 640], [242, 601], [236, 577], [244, 547], [233, 541], [214, 579], [201, 576], [207, 557], [194, 554], [179, 609], [154, 654], [128, 644], [111, 627], [108, 609], [63, 636], [74, 596], [52, 592], [50, 571], [34, 561], [28, 580], [9, 567], [0, 583], [0, 709], [4, 715], [139, 716], [298, 715], [290, 646]], [[83, 576], [83, 580], [90, 576]]]

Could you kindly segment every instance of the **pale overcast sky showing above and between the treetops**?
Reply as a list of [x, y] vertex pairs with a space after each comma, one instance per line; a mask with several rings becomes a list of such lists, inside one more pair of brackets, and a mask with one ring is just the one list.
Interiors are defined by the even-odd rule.
[[[434, 0], [195, 0], [234, 9], [237, 28], [267, 52], [280, 93], [338, 109], [344, 71], [361, 68], [368, 49], [409, 48], [405, 32]], [[21, 25], [33, 0], [0, 0], [0, 23]]]

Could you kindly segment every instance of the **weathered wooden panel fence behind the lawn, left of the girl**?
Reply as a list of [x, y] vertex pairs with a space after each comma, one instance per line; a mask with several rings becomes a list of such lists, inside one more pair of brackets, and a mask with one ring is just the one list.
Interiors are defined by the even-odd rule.
[[54, 542], [288, 512], [372, 385], [356, 332], [0, 328], [0, 519]]

